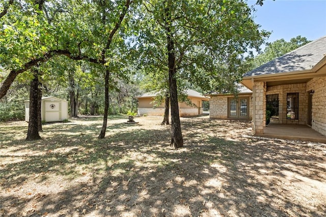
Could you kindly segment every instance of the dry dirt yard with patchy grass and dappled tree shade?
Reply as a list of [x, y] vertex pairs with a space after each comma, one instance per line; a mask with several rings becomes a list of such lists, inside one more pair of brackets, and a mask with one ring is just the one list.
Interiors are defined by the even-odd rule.
[[326, 216], [326, 144], [251, 136], [251, 123], [162, 117], [0, 123], [0, 216]]

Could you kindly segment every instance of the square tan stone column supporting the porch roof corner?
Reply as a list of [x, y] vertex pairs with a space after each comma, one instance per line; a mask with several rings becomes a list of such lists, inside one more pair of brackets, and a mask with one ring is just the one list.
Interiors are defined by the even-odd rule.
[[253, 85], [253, 132], [263, 134], [263, 127], [266, 125], [266, 87], [264, 82], [254, 82]]

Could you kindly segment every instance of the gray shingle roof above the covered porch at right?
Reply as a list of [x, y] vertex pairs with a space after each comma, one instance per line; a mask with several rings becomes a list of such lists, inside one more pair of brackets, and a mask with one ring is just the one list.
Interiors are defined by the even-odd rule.
[[290, 51], [275, 60], [245, 73], [243, 76], [257, 76], [311, 70], [326, 54], [326, 36]]

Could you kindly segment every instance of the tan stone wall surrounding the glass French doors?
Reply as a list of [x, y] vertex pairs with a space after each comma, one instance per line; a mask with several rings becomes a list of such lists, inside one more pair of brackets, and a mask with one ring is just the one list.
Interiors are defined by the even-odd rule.
[[[252, 119], [252, 94], [242, 94], [238, 97], [248, 97], [249, 98], [249, 118]], [[229, 117], [229, 100], [234, 98], [234, 95], [211, 95], [209, 100], [209, 118], [211, 119], [234, 119]]]

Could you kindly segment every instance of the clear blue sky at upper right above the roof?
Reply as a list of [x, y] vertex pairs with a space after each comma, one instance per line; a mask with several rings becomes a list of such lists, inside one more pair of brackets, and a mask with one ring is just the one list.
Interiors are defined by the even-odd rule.
[[[248, 5], [256, 2], [249, 0]], [[298, 35], [308, 40], [326, 36], [326, 0], [265, 0], [255, 8], [255, 22], [273, 32], [268, 42], [289, 41]]]

